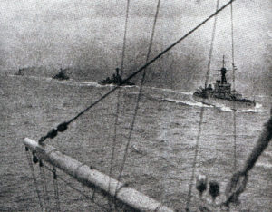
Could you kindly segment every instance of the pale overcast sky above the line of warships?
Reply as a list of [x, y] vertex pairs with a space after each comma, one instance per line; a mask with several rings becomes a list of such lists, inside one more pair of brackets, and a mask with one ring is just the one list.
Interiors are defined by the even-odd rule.
[[[153, 56], [216, 8], [215, 0], [160, 2], [154, 37], [157, 48], [151, 53]], [[227, 2], [221, 0], [220, 5]], [[58, 69], [79, 63], [92, 63], [97, 68], [106, 63], [109, 69], [120, 66], [126, 3], [125, 0], [1, 0], [0, 69], [28, 66]], [[156, 0], [131, 0], [127, 43], [130, 56], [125, 61], [128, 69], [137, 56], [139, 65], [144, 62], [156, 5]], [[271, 68], [272, 1], [237, 0], [233, 6], [237, 66], [256, 74], [268, 72], [269, 65], [263, 66], [264, 60], [268, 60]], [[229, 12], [228, 7], [219, 14], [214, 66], [222, 54], [228, 59], [231, 57]], [[188, 53], [188, 48], [199, 48], [207, 60], [212, 24], [213, 20], [173, 51], [183, 55]], [[86, 59], [87, 54], [92, 54], [92, 58], [87, 56]], [[102, 63], [97, 62], [100, 59]], [[254, 65], [262, 69], [255, 70]]]

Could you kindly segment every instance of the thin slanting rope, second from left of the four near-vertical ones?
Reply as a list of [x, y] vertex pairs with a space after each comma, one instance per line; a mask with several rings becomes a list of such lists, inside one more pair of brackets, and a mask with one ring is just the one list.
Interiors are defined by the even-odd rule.
[[[155, 14], [155, 17], [154, 17], [154, 22], [153, 22], [152, 32], [151, 32], [151, 40], [150, 40], [149, 49], [148, 49], [148, 53], [147, 53], [147, 57], [146, 57], [146, 63], [148, 63], [149, 58], [150, 58], [150, 54], [151, 54], [151, 48], [152, 48], [153, 38], [154, 38], [154, 34], [155, 34], [155, 27], [156, 27], [156, 23], [157, 23], [159, 10], [160, 10], [160, 0], [158, 0], [156, 14]], [[120, 173], [119, 173], [119, 176], [118, 176], [118, 179], [117, 179], [118, 182], [121, 179], [121, 175], [122, 175], [122, 172], [123, 172], [123, 169], [124, 169], [124, 166], [125, 166], [125, 162], [126, 162], [126, 159], [127, 159], [128, 149], [129, 149], [129, 146], [130, 146], [130, 143], [131, 143], [131, 135], [132, 135], [132, 131], [134, 129], [134, 124], [135, 124], [135, 120], [136, 120], [136, 117], [137, 117], [137, 112], [139, 110], [139, 103], [141, 101], [142, 85], [144, 83], [145, 75], [146, 75], [146, 69], [143, 70], [142, 77], [141, 77], [140, 91], [139, 91], [138, 96], [137, 96], [137, 101], [136, 101], [133, 117], [132, 117], [132, 120], [131, 120], [131, 128], [130, 128], [128, 141], [127, 141], [127, 144], [126, 144], [125, 152], [124, 152], [122, 163], [121, 163]], [[115, 196], [117, 195], [117, 188], [118, 188], [118, 184], [117, 184], [116, 189], [115, 189]]]

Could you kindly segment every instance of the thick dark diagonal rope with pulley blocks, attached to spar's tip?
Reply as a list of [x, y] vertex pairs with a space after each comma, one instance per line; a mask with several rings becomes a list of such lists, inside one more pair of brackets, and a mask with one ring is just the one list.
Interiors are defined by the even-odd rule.
[[[178, 43], [180, 43], [185, 38], [187, 38], [190, 34], [194, 33], [196, 30], [199, 29], [200, 26], [202, 26], [203, 24], [206, 24], [209, 21], [209, 19], [211, 19], [212, 17], [214, 17], [216, 14], [219, 14], [219, 12], [221, 12], [222, 10], [224, 10], [228, 5], [230, 5], [234, 1], [235, 0], [230, 0], [227, 4], [225, 4], [222, 7], [220, 7], [217, 12], [215, 12], [213, 14], [210, 14], [208, 18], [206, 18], [204, 21], [202, 21], [200, 24], [198, 24], [196, 27], [194, 27], [192, 30], [190, 30], [187, 34], [183, 35], [178, 41], [176, 41], [175, 43], [172, 43], [168, 48], [166, 48], [164, 51], [162, 51], [157, 56], [155, 56], [153, 59], [151, 59], [151, 61], [149, 61], [148, 63], [145, 63], [144, 65], [142, 65], [141, 68], [138, 71], [133, 72], [129, 77], [127, 77], [125, 80], [123, 80], [123, 82], [121, 82], [121, 84], [129, 82], [131, 80], [131, 78], [135, 77], [138, 73], [143, 72], [148, 66], [151, 65], [151, 63], [154, 63], [155, 61], [157, 61], [162, 55], [164, 55], [165, 53], [169, 52], [170, 49], [172, 49]], [[64, 130], [67, 130], [67, 128], [68, 128], [68, 126], [69, 126], [70, 123], [72, 123], [74, 120], [77, 120], [86, 111], [89, 111], [94, 105], [96, 105], [97, 103], [99, 103], [100, 101], [102, 101], [103, 99], [105, 99], [112, 92], [114, 92], [115, 90], [117, 90], [119, 88], [120, 88], [120, 86], [114, 87], [111, 91], [106, 92], [105, 94], [103, 94], [100, 99], [92, 102], [92, 104], [89, 105], [86, 109], [84, 109], [83, 111], [81, 111], [77, 115], [75, 115], [71, 120], [65, 121], [65, 122], [59, 124], [56, 129], [50, 130], [45, 136], [43, 136], [43, 137], [40, 138], [39, 143], [40, 144], [43, 143], [44, 140], [46, 140], [48, 138], [53, 139], [57, 135], [58, 132], [63, 132]]]

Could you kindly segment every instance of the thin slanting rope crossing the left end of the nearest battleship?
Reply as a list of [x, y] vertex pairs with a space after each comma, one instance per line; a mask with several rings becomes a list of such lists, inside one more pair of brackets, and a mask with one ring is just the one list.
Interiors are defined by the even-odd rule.
[[[217, 1], [217, 5], [216, 5], [216, 12], [218, 12], [218, 11], [219, 11], [219, 0]], [[218, 16], [215, 15], [213, 29], [212, 29], [211, 42], [210, 42], [210, 48], [209, 48], [208, 69], [207, 69], [206, 78], [205, 78], [205, 87], [206, 87], [207, 83], [209, 82], [210, 63], [211, 63], [212, 52], [213, 52], [213, 43], [214, 43], [214, 39], [215, 39], [217, 17]], [[197, 158], [198, 158], [198, 154], [199, 154], [199, 140], [200, 140], [200, 135], [201, 135], [201, 130], [202, 130], [203, 116], [204, 116], [204, 106], [201, 107], [201, 111], [200, 111], [199, 130], [198, 130], [197, 142], [196, 142], [195, 153], [194, 153], [193, 170], [192, 170], [191, 178], [189, 181], [189, 192], [188, 192], [187, 202], [186, 202], [186, 211], [189, 211], [191, 190], [192, 190], [192, 186], [193, 186], [193, 180], [195, 178], [195, 171], [196, 171]]]

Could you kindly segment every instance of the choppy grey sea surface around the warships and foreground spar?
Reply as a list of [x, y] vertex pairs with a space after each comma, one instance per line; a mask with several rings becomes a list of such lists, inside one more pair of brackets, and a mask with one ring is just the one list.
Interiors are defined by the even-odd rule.
[[[39, 140], [48, 130], [97, 100], [112, 86], [96, 82], [59, 82], [50, 78], [5, 75], [0, 80], [0, 211], [40, 211], [34, 179], [27, 163], [23, 140]], [[117, 142], [112, 177], [118, 178], [124, 149], [129, 135], [139, 87], [121, 88]], [[193, 169], [199, 128], [199, 113], [204, 109], [199, 140], [196, 174], [206, 174], [217, 180], [223, 198], [226, 183], [233, 173], [234, 135], [233, 111], [224, 106], [211, 107], [193, 101], [192, 91], [172, 91], [144, 87], [140, 109], [131, 137], [128, 158], [121, 177], [131, 188], [155, 198], [162, 204], [184, 211], [189, 181]], [[241, 167], [253, 149], [263, 124], [268, 120], [271, 97], [256, 96], [257, 107], [237, 111], [237, 160]], [[109, 174], [112, 140], [116, 116], [117, 92], [110, 95], [78, 120], [64, 133], [46, 143], [87, 165]], [[35, 177], [42, 192], [43, 180], [38, 165]], [[91, 188], [84, 188], [73, 178], [59, 171], [74, 187], [92, 196]], [[58, 180], [62, 211], [103, 211], [89, 199]], [[47, 210], [54, 211], [53, 176], [45, 170], [49, 194]], [[99, 194], [95, 200], [107, 206]], [[209, 201], [209, 195], [204, 194]], [[191, 211], [199, 204], [193, 187]], [[231, 211], [271, 211], [272, 208], [272, 145], [258, 159], [250, 171], [246, 191], [240, 204]]]

